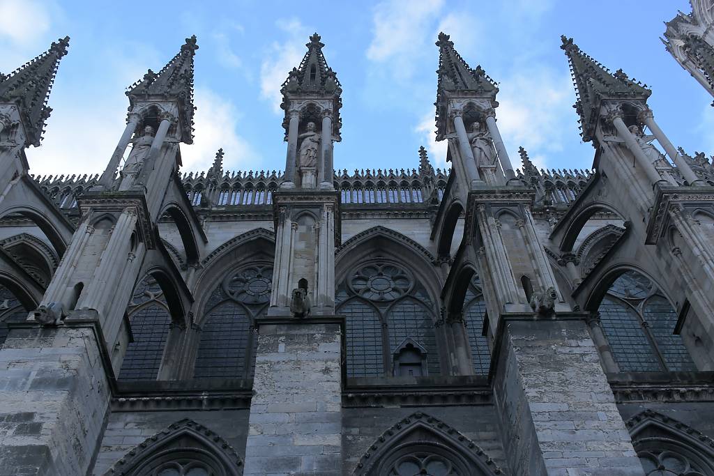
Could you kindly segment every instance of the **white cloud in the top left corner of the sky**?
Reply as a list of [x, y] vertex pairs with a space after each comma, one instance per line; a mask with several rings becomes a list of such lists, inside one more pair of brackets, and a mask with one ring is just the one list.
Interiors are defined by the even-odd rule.
[[49, 13], [34, 0], [0, 0], [0, 35], [30, 44], [49, 29]]

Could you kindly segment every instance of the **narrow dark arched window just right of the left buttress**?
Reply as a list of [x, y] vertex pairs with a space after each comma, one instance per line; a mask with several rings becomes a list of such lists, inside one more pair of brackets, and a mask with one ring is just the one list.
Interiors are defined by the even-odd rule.
[[126, 348], [119, 380], [156, 380], [171, 316], [164, 293], [154, 278], [145, 278], [136, 287], [127, 314], [134, 340]]

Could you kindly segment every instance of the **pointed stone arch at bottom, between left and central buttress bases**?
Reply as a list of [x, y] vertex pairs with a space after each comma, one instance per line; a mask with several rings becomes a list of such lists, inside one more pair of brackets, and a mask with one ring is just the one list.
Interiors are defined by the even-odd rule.
[[185, 419], [136, 445], [104, 476], [153, 476], [171, 464], [203, 467], [215, 476], [243, 474], [243, 460], [221, 435]]

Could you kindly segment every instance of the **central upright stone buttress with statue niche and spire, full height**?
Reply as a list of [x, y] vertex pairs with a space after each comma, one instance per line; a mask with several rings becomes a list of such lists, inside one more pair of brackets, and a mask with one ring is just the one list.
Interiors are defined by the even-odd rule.
[[[341, 465], [343, 320], [334, 315], [341, 232], [332, 150], [340, 140], [342, 90], [320, 36], [306, 46], [282, 88], [288, 152], [281, 189], [273, 193], [276, 272], [268, 317], [257, 323], [246, 475], [329, 474]], [[263, 432], [276, 418], [283, 419], [277, 442]], [[292, 457], [281, 462], [276, 452]]]

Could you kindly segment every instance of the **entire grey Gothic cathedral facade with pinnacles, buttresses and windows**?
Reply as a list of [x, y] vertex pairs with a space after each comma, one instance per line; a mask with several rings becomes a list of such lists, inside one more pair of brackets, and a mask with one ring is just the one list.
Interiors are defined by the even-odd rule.
[[[714, 95], [692, 7], [663, 41]], [[286, 71], [280, 173], [181, 173], [195, 36], [97, 176], [25, 155], [69, 38], [0, 74], [0, 475], [713, 476], [714, 167], [652, 91], [563, 37], [593, 168], [517, 169], [442, 33], [451, 169], [348, 173], [324, 46]]]

